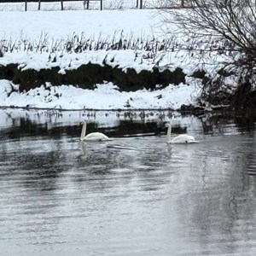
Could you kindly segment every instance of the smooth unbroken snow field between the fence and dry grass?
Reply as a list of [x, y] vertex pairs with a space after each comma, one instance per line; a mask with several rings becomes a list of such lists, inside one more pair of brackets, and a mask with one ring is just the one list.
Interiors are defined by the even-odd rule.
[[20, 37], [35, 41], [40, 38], [67, 38], [73, 32], [84, 37], [112, 37], [114, 32], [151, 36], [159, 19], [154, 10], [67, 10], [67, 11], [3, 11], [0, 15], [0, 38]]

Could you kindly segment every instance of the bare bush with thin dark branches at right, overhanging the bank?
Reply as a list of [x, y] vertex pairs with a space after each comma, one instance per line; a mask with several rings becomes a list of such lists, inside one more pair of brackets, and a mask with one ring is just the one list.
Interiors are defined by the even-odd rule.
[[[255, 1], [191, 0], [190, 4], [191, 8], [186, 11], [161, 10], [160, 15], [163, 17], [164, 24], [176, 23], [180, 31], [184, 32], [184, 36], [192, 37], [197, 42], [204, 42], [208, 46], [201, 49], [204, 52], [215, 51], [219, 55], [229, 56], [227, 58], [229, 61], [221, 63], [218, 79], [214, 81], [215, 86], [223, 84], [221, 77], [224, 78], [228, 73], [235, 73], [240, 84], [247, 84], [247, 86], [249, 84], [250, 90], [254, 84], [255, 88]], [[189, 50], [191, 50], [191, 45]], [[208, 83], [206, 86], [208, 93], [214, 87], [212, 84]], [[214, 91], [217, 91], [216, 87]]]

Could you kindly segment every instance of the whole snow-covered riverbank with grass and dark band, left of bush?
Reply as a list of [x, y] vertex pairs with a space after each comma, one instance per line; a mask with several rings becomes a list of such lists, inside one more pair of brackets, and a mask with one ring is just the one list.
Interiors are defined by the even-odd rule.
[[[0, 106], [225, 107], [199, 99], [203, 84], [228, 56], [201, 54], [206, 45], [192, 45], [173, 24], [173, 34], [166, 37], [160, 18], [154, 9], [3, 12], [0, 21], [7, 26], [0, 30]], [[191, 45], [195, 50], [189, 52]], [[207, 44], [213, 46], [218, 42]]]

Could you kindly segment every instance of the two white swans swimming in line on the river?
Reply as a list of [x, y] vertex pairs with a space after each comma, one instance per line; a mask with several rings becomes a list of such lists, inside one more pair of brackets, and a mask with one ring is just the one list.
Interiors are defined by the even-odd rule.
[[[82, 132], [81, 132], [81, 141], [97, 141], [97, 142], [102, 142], [102, 141], [109, 141], [111, 140], [108, 136], [103, 134], [102, 132], [91, 132], [87, 135], [86, 134], [86, 122], [83, 121], [81, 122], [83, 124]], [[174, 137], [171, 139], [171, 133], [172, 133], [172, 125], [170, 123], [166, 124], [167, 130], [167, 142], [166, 143], [172, 143], [172, 144], [191, 144], [191, 143], [198, 143], [195, 141], [195, 137], [187, 135], [187, 134], [181, 134], [178, 135], [177, 137]]]

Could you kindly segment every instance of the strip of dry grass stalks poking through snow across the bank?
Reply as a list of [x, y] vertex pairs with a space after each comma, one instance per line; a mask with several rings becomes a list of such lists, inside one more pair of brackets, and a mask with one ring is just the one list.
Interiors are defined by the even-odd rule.
[[230, 48], [224, 48], [224, 42], [221, 39], [211, 42], [197, 42], [196, 40], [189, 40], [181, 43], [176, 36], [168, 38], [156, 38], [154, 35], [144, 38], [143, 36], [136, 37], [131, 32], [125, 35], [123, 31], [116, 31], [112, 36], [98, 37], [91, 36], [86, 38], [84, 33], [73, 34], [66, 39], [52, 39], [50, 40], [47, 32], [42, 32], [38, 41], [30, 40], [22, 37], [20, 38], [2, 38], [0, 39], [0, 52], [4, 55], [5, 52], [67, 52], [67, 53], [82, 53], [88, 50], [142, 50], [155, 54], [157, 52], [173, 52], [181, 49], [188, 51], [195, 51], [197, 54], [204, 55], [207, 52], [218, 52], [219, 55], [224, 54], [224, 51], [229, 51]]

